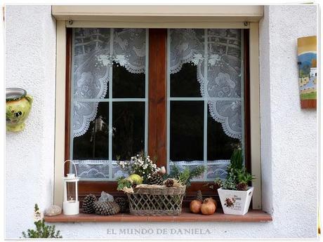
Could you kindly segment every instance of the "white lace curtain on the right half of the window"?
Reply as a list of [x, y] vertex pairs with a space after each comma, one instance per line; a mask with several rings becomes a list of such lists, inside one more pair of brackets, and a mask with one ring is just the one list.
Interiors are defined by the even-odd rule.
[[[197, 81], [213, 119], [226, 135], [242, 138], [240, 29], [170, 29], [170, 72], [197, 65]], [[205, 63], [205, 64], [204, 64]]]

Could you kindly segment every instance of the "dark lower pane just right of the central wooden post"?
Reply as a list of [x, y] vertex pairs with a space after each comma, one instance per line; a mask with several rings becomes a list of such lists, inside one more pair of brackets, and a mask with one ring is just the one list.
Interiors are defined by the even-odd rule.
[[171, 161], [203, 161], [203, 101], [172, 101]]

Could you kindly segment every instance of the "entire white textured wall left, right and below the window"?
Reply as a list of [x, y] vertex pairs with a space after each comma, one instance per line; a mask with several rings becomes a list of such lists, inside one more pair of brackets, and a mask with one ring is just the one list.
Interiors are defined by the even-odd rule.
[[[26, 130], [6, 136], [7, 238], [18, 238], [32, 226], [35, 202], [46, 208], [53, 201], [55, 22], [50, 13], [48, 6], [6, 8], [6, 85], [26, 88], [35, 98]], [[316, 112], [300, 108], [296, 58], [296, 39], [315, 33], [315, 6], [265, 7], [260, 22], [262, 186], [263, 209], [273, 222], [56, 224], [62, 235], [315, 238]]]

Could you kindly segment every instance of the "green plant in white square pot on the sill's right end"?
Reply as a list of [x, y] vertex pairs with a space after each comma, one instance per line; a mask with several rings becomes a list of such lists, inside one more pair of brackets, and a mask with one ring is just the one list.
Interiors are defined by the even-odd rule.
[[235, 149], [228, 166], [228, 176], [225, 180], [215, 180], [223, 213], [245, 215], [251, 202], [253, 187], [249, 187], [254, 177], [243, 167], [242, 149]]

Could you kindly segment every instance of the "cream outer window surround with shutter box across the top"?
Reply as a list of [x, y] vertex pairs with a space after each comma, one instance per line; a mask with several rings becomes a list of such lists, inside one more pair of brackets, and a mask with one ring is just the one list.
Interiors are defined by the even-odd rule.
[[249, 29], [250, 159], [252, 208], [261, 209], [261, 117], [259, 21], [263, 6], [52, 6], [56, 19], [55, 166], [53, 203], [62, 206], [65, 159], [66, 43], [70, 27], [239, 28]]

